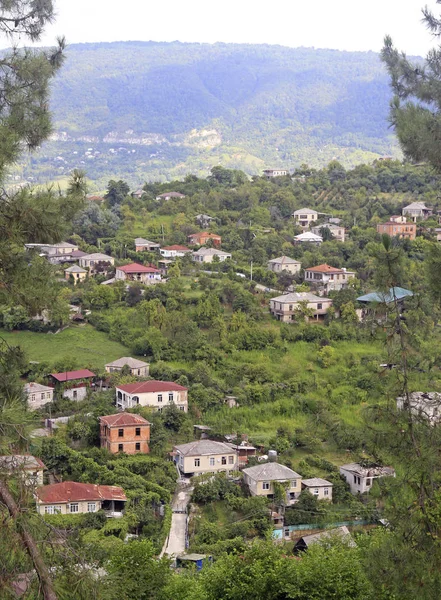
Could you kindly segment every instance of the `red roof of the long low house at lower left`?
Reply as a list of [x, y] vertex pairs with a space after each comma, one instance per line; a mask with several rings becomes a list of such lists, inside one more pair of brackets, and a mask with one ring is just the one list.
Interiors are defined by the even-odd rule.
[[87, 500], [127, 500], [124, 490], [116, 485], [96, 485], [93, 483], [77, 483], [63, 481], [37, 488], [37, 499], [40, 504], [56, 504], [57, 502], [83, 502]]

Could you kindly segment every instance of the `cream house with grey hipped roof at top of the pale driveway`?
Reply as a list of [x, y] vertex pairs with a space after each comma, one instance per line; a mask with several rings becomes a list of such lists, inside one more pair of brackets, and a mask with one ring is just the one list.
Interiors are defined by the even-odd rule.
[[223, 442], [197, 440], [174, 446], [173, 453], [180, 472], [186, 476], [237, 470], [236, 452]]

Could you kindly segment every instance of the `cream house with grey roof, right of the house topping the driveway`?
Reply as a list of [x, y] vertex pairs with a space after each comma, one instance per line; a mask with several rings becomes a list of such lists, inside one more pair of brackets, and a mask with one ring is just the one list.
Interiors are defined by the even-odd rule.
[[276, 491], [275, 483], [280, 483], [285, 488], [286, 504], [294, 504], [300, 496], [302, 476], [277, 462], [249, 467], [242, 473], [252, 496], [266, 496], [273, 499]]

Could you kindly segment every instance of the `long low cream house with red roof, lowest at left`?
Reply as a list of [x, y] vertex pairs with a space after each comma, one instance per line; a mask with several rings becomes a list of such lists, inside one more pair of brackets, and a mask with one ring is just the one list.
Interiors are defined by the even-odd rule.
[[127, 497], [115, 485], [63, 481], [36, 490], [40, 515], [84, 514], [104, 510], [107, 517], [122, 517]]

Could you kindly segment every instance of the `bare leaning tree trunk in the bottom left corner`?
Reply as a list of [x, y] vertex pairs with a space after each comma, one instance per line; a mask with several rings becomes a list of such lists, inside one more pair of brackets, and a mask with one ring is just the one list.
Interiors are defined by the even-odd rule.
[[19, 535], [29, 556], [31, 557], [35, 571], [38, 575], [38, 579], [40, 580], [44, 600], [58, 600], [58, 597], [52, 585], [52, 580], [49, 575], [48, 568], [43, 558], [41, 557], [38, 546], [35, 543], [35, 540], [32, 537], [32, 535], [20, 522], [20, 509], [17, 506], [17, 503], [15, 502], [11, 492], [9, 491], [8, 486], [2, 480], [0, 480], [0, 500], [6, 505], [10, 516], [15, 520], [17, 524]]

